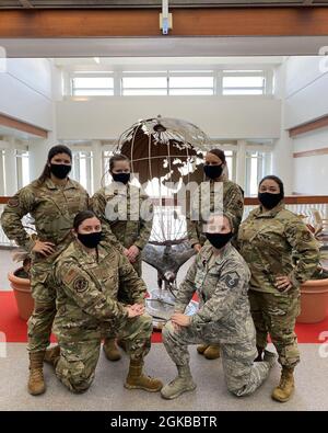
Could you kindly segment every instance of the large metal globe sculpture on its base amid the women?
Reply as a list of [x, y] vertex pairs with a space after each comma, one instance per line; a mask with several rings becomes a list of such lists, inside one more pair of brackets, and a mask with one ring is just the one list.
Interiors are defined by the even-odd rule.
[[[142, 260], [157, 271], [157, 288], [149, 290], [147, 303], [156, 328], [171, 317], [177, 272], [195, 254], [187, 240], [186, 207], [181, 209], [176, 198], [185, 184], [203, 181], [203, 155], [209, 144], [209, 137], [196, 125], [157, 116], [132, 125], [121, 134], [115, 149], [130, 159], [134, 182], [154, 204], [152, 233]], [[196, 308], [197, 303], [191, 301], [187, 314]]]

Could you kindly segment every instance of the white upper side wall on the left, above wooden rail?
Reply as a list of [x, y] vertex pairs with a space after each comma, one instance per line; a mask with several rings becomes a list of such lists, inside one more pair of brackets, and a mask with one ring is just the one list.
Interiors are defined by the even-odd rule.
[[51, 130], [51, 69], [47, 59], [7, 59], [0, 73], [0, 113]]

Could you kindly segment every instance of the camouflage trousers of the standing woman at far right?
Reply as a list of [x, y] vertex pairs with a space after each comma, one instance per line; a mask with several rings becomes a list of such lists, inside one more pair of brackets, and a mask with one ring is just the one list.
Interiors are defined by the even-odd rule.
[[250, 312], [256, 328], [257, 346], [265, 349], [268, 333], [282, 366], [294, 368], [300, 362], [296, 318], [301, 311], [300, 293], [265, 293], [249, 290]]

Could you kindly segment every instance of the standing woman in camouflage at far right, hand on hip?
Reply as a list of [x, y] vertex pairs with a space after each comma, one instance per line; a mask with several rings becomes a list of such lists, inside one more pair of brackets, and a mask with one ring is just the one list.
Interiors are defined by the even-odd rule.
[[[238, 247], [250, 272], [248, 292], [257, 330], [258, 361], [271, 337], [282, 365], [281, 380], [272, 392], [288, 401], [294, 390], [293, 371], [300, 362], [296, 317], [300, 285], [315, 272], [319, 252], [306, 225], [283, 204], [283, 183], [269, 175], [259, 184], [260, 206], [241, 225]], [[297, 255], [298, 260], [294, 262]]]

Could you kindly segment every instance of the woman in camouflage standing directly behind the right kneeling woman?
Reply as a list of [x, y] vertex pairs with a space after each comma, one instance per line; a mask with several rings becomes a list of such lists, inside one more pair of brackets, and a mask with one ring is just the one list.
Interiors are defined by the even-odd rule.
[[[209, 214], [213, 213], [215, 201], [218, 201], [219, 206], [221, 205], [220, 201], [222, 201], [223, 208], [220, 210], [230, 216], [233, 223], [235, 238], [238, 232], [244, 210], [244, 193], [239, 185], [226, 179], [226, 174], [224, 173], [225, 168], [226, 160], [224, 151], [212, 149], [207, 153], [203, 171], [210, 181], [210, 197], [208, 197], [206, 193], [197, 204], [192, 203], [192, 206], [199, 206], [197, 208], [201, 210], [200, 218], [195, 220], [192, 220], [190, 216], [187, 218], [188, 238], [191, 247], [197, 253], [206, 242], [206, 236], [203, 233], [203, 224], [206, 223], [203, 217], [207, 214], [206, 207], [209, 205]], [[215, 191], [215, 186], [221, 187]], [[215, 360], [220, 356], [219, 346], [213, 344], [199, 345], [197, 351], [208, 360]]]

